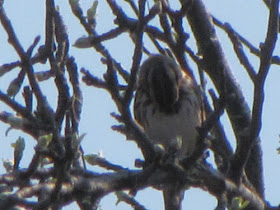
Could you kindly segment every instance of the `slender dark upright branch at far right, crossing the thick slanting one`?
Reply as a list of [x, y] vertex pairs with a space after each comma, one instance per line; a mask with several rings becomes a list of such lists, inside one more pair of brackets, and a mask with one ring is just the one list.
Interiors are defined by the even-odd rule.
[[239, 142], [234, 159], [231, 161], [231, 178], [233, 180], [240, 179], [243, 168], [249, 159], [251, 148], [257, 143], [262, 123], [262, 107], [264, 101], [264, 83], [270, 68], [270, 61], [275, 43], [278, 36], [278, 8], [279, 0], [271, 1], [271, 9], [269, 15], [268, 30], [265, 43], [262, 46], [262, 55], [259, 72], [254, 81], [254, 102], [252, 111], [252, 120], [250, 124], [249, 138], [246, 141]]

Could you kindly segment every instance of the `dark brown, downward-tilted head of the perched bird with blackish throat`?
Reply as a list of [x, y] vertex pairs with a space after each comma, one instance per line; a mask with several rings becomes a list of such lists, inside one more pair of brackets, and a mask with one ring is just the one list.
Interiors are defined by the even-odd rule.
[[163, 112], [172, 111], [179, 98], [182, 72], [175, 61], [165, 55], [150, 56], [141, 66], [138, 85]]

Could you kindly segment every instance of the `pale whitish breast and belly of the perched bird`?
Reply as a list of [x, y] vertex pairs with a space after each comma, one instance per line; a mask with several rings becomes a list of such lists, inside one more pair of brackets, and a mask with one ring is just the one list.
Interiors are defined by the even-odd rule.
[[150, 104], [146, 109], [144, 129], [149, 138], [165, 149], [176, 147], [180, 154], [190, 154], [196, 142], [197, 129], [200, 126], [200, 113], [189, 100], [181, 103], [178, 112], [172, 114], [156, 109]]

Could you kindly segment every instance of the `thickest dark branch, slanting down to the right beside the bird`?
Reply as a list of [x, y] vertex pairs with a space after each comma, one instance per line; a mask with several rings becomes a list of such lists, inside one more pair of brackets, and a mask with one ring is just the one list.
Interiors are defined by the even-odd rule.
[[[223, 93], [226, 96], [226, 109], [238, 144], [246, 142], [249, 138], [248, 130], [251, 123], [250, 110], [226, 61], [215, 33], [211, 16], [201, 0], [193, 1], [192, 8], [187, 13], [187, 18], [196, 38], [198, 48], [201, 50], [205, 71], [213, 80], [220, 94]], [[246, 173], [258, 193], [263, 196], [264, 187], [260, 145], [254, 145], [250, 157]], [[235, 181], [239, 182], [239, 180]]]

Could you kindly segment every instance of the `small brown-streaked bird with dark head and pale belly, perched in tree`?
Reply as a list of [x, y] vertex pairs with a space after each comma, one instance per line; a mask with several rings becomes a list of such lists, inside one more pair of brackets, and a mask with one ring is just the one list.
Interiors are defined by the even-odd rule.
[[[201, 89], [173, 58], [153, 54], [143, 62], [133, 109], [152, 143], [178, 158], [193, 153], [203, 120]], [[180, 209], [183, 192], [181, 186], [163, 190], [165, 209]]]

